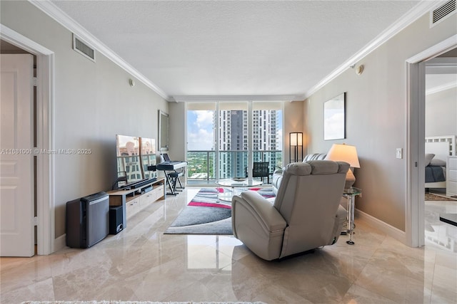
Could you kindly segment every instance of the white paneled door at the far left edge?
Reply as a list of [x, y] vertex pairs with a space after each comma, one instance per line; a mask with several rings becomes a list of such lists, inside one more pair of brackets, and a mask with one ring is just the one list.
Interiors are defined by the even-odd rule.
[[0, 256], [34, 256], [34, 58], [0, 56]]

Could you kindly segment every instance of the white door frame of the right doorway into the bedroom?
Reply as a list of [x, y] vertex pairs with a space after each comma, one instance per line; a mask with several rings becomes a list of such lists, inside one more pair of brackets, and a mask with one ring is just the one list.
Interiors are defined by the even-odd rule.
[[424, 184], [425, 172], [425, 62], [456, 48], [457, 35], [406, 60], [406, 243], [425, 244]]

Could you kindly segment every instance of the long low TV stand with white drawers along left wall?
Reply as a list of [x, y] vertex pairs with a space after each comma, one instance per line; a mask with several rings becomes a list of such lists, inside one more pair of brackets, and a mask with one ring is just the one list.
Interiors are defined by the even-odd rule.
[[135, 187], [116, 189], [107, 192], [109, 194], [109, 206], [122, 206], [122, 218], [124, 229], [127, 226], [127, 219], [149, 204], [165, 199], [165, 179], [149, 179], [140, 181]]

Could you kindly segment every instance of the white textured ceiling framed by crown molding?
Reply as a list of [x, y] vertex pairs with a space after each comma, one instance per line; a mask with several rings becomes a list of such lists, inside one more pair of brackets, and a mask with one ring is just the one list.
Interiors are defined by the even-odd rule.
[[419, 1], [52, 1], [166, 95], [303, 95]]

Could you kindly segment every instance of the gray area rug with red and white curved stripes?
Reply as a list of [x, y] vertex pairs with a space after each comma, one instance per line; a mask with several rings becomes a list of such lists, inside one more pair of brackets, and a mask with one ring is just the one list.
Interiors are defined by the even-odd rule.
[[[265, 198], [274, 197], [271, 188], [251, 188]], [[231, 235], [231, 201], [221, 201], [219, 194], [231, 194], [227, 188], [202, 188], [164, 234]]]

